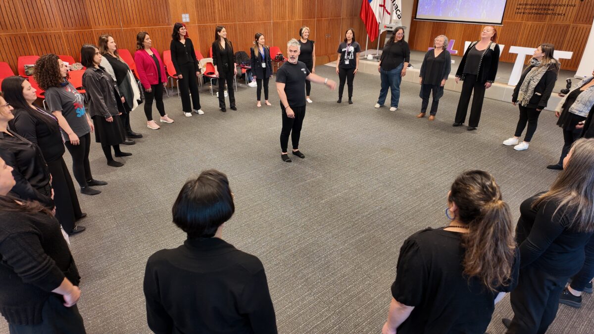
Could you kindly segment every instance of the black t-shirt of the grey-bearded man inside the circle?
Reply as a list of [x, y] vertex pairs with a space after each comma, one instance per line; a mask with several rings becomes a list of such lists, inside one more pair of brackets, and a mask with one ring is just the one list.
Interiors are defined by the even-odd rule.
[[309, 70], [301, 61], [297, 64], [287, 61], [277, 71], [276, 82], [285, 84], [285, 94], [291, 108], [305, 106], [305, 78], [308, 75]]

